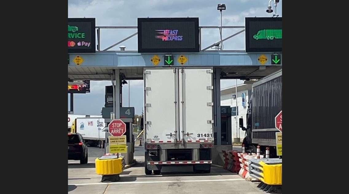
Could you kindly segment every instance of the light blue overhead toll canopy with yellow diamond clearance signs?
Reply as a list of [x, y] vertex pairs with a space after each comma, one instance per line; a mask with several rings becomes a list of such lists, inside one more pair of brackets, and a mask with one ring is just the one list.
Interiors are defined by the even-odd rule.
[[[160, 58], [158, 65], [151, 59], [157, 55]], [[185, 64], [177, 59], [180, 55], [187, 58]], [[268, 56], [267, 54], [265, 54]], [[273, 53], [269, 53], [272, 57]], [[83, 63], [76, 65], [73, 60], [81, 57]], [[281, 65], [271, 65], [269, 60], [264, 65], [258, 62], [258, 54], [229, 53], [229, 52], [199, 52], [195, 54], [174, 54], [174, 65], [171, 67], [215, 67], [220, 68], [222, 79], [254, 79], [265, 77], [282, 68]], [[169, 68], [164, 64], [165, 54], [140, 54], [127, 51], [101, 51], [89, 54], [69, 54], [68, 80], [110, 80], [113, 69], [119, 69], [126, 79], [143, 79], [144, 67]], [[262, 66], [262, 67], [261, 67]]]

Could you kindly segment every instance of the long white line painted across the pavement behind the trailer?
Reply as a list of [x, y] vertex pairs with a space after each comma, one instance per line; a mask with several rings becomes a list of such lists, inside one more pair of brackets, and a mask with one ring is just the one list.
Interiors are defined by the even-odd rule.
[[134, 181], [134, 182], [112, 182], [112, 183], [81, 183], [81, 184], [68, 184], [75, 186], [83, 185], [108, 185], [108, 184], [149, 184], [149, 183], [190, 183], [190, 182], [217, 182], [217, 181], [236, 181], [244, 180], [243, 178], [238, 179], [214, 179], [214, 180], [167, 180], [167, 181]]

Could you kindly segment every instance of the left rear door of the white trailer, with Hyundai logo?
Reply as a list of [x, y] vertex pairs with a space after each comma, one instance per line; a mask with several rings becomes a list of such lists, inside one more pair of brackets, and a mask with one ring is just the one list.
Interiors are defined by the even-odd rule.
[[174, 69], [144, 71], [144, 127], [147, 142], [177, 140], [177, 80], [178, 73]]

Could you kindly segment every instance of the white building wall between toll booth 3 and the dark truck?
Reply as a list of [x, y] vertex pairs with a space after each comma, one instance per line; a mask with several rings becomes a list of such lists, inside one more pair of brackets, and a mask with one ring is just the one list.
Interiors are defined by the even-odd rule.
[[[242, 93], [245, 93], [245, 107], [242, 106]], [[232, 98], [232, 95], [235, 95], [235, 91], [230, 94], [221, 95], [221, 106], [235, 107], [236, 100]], [[240, 141], [242, 142], [245, 137], [245, 131], [239, 128], [239, 118], [242, 117], [244, 119], [244, 127], [247, 127], [246, 114], [247, 114], [247, 107], [248, 107], [248, 100], [249, 100], [248, 90], [238, 91], [237, 100], [238, 100], [238, 116], [237, 116], [237, 119], [235, 115], [231, 116], [231, 130], [232, 130], [231, 137], [232, 138], [239, 137]], [[238, 126], [238, 134], [236, 133], [236, 121]]]

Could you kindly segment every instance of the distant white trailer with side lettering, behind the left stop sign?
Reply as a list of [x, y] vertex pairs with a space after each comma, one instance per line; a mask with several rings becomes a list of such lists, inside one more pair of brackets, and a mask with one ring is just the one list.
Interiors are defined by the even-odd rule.
[[105, 121], [102, 117], [76, 118], [72, 126], [73, 133], [80, 133], [88, 145], [104, 147]]

